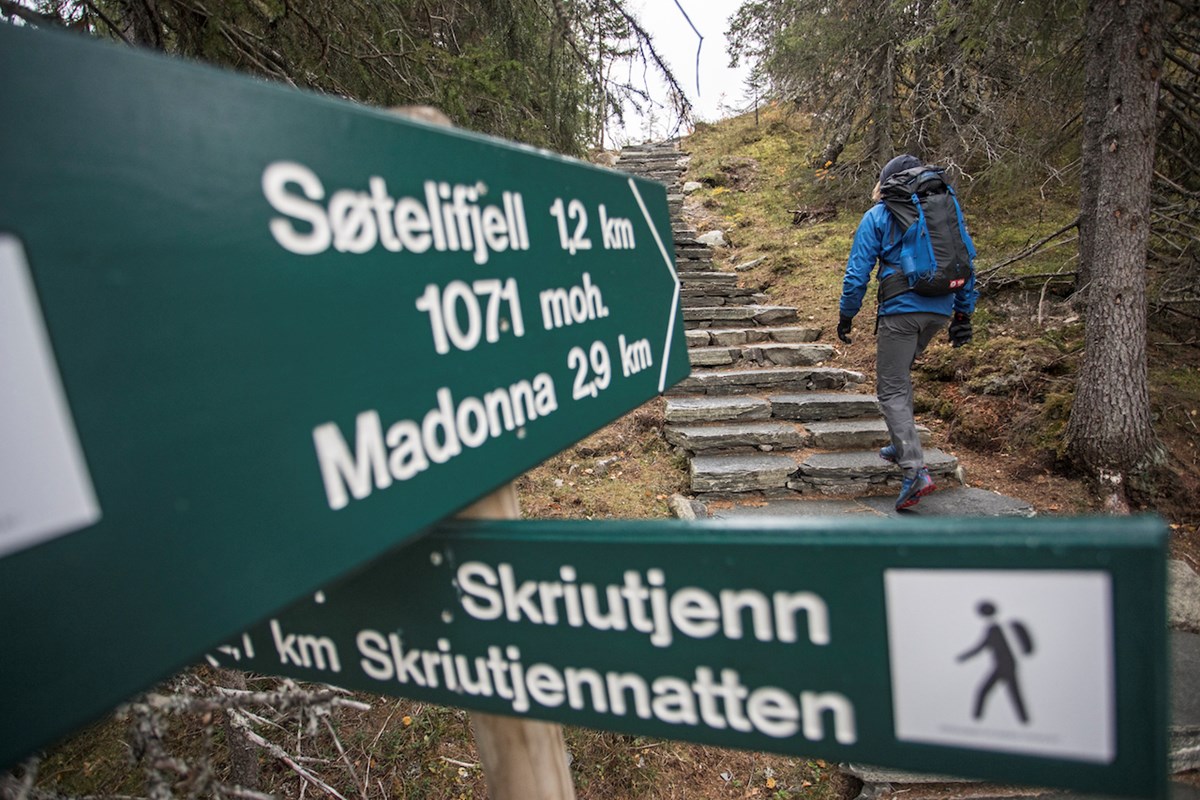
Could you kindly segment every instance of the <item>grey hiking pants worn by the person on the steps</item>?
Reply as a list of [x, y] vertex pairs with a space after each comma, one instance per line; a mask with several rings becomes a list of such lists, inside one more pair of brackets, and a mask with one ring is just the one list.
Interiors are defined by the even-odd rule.
[[913, 312], [878, 318], [875, 344], [875, 393], [880, 398], [896, 463], [905, 477], [925, 465], [920, 435], [912, 417], [912, 362], [917, 360], [949, 317]]

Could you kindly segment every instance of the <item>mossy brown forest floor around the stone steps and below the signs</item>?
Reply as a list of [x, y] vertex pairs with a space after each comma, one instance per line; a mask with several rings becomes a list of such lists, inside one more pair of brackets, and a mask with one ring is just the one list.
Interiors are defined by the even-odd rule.
[[[718, 266], [745, 270], [743, 281], [774, 302], [800, 308], [836, 345], [834, 366], [874, 373], [871, 303], [854, 321], [853, 343], [833, 330], [841, 275], [854, 227], [874, 182], [811, 163], [811, 133], [799, 116], [770, 110], [702, 126], [685, 143], [688, 179], [702, 184], [689, 199], [700, 229], [721, 229], [730, 247]], [[854, 154], [845, 161], [853, 162]], [[1069, 222], [1075, 187], [1022, 187], [998, 178], [960, 186], [972, 235], [986, 269]], [[792, 211], [816, 209], [822, 221], [793, 224]], [[1070, 269], [1074, 246], [1054, 243], [994, 273], [1010, 279]], [[1000, 279], [985, 287], [974, 315], [976, 341], [952, 349], [935, 343], [917, 369], [917, 408], [935, 444], [965, 465], [972, 486], [1021, 498], [1042, 515], [1098, 513], [1082, 481], [1061, 470], [1058, 451], [1082, 350], [1082, 324], [1054, 278]], [[1021, 288], [1024, 287], [1024, 288]], [[1140, 509], [1171, 525], [1171, 554], [1200, 571], [1200, 349], [1195, 332], [1151, 331], [1151, 398], [1164, 446], [1154, 483], [1140, 487]], [[517, 480], [527, 518], [666, 517], [667, 499], [685, 492], [685, 462], [661, 437], [662, 403], [652, 401]], [[222, 676], [200, 667], [164, 688], [211, 691]], [[276, 679], [252, 676], [251, 687]], [[280, 716], [258, 728], [266, 739], [307, 758], [306, 769], [354, 800], [482, 798], [486, 788], [466, 711], [406, 699], [356, 694], [368, 711], [338, 710], [329, 724], [308, 727]], [[120, 712], [48, 751], [38, 788], [67, 795], [145, 793], [144, 775]], [[336, 734], [336, 739], [335, 739]], [[582, 800], [769, 798], [844, 800], [852, 781], [821, 759], [686, 745], [566, 728], [577, 796]], [[210, 759], [228, 771], [222, 721], [209, 715], [174, 721], [172, 752]], [[324, 792], [278, 758], [260, 754], [263, 792], [302, 800]]]

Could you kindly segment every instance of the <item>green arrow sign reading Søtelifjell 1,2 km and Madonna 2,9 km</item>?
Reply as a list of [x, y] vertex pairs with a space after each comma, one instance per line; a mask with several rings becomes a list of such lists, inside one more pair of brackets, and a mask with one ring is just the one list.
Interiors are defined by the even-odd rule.
[[0, 764], [689, 369], [661, 186], [0, 25]]

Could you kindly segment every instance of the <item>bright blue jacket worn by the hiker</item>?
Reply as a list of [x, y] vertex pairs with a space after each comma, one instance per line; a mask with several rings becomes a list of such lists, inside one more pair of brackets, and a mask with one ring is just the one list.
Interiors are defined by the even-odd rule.
[[[970, 236], [966, 230], [964, 234]], [[850, 248], [846, 277], [841, 282], [841, 301], [838, 308], [842, 317], [853, 317], [863, 307], [863, 295], [866, 294], [866, 285], [871, 282], [876, 264], [880, 266], [877, 279], [900, 271], [900, 237], [901, 231], [892, 221], [892, 215], [883, 203], [876, 203], [863, 215], [863, 221], [854, 231], [854, 243]], [[970, 314], [974, 311], [978, 294], [972, 272], [966, 285], [952, 295], [923, 297], [916, 291], [906, 291], [880, 306], [878, 315], [907, 314], [916, 311], [946, 317], [955, 311]]]

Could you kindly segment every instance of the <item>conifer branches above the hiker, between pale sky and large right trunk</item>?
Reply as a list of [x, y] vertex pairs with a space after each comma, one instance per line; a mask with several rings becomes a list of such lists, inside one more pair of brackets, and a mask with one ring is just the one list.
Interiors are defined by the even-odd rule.
[[730, 38], [776, 97], [817, 114], [817, 166], [860, 140], [877, 166], [907, 151], [962, 167], [1037, 157], [1031, 132], [1061, 136], [1081, 20], [1079, 0], [748, 0]]

